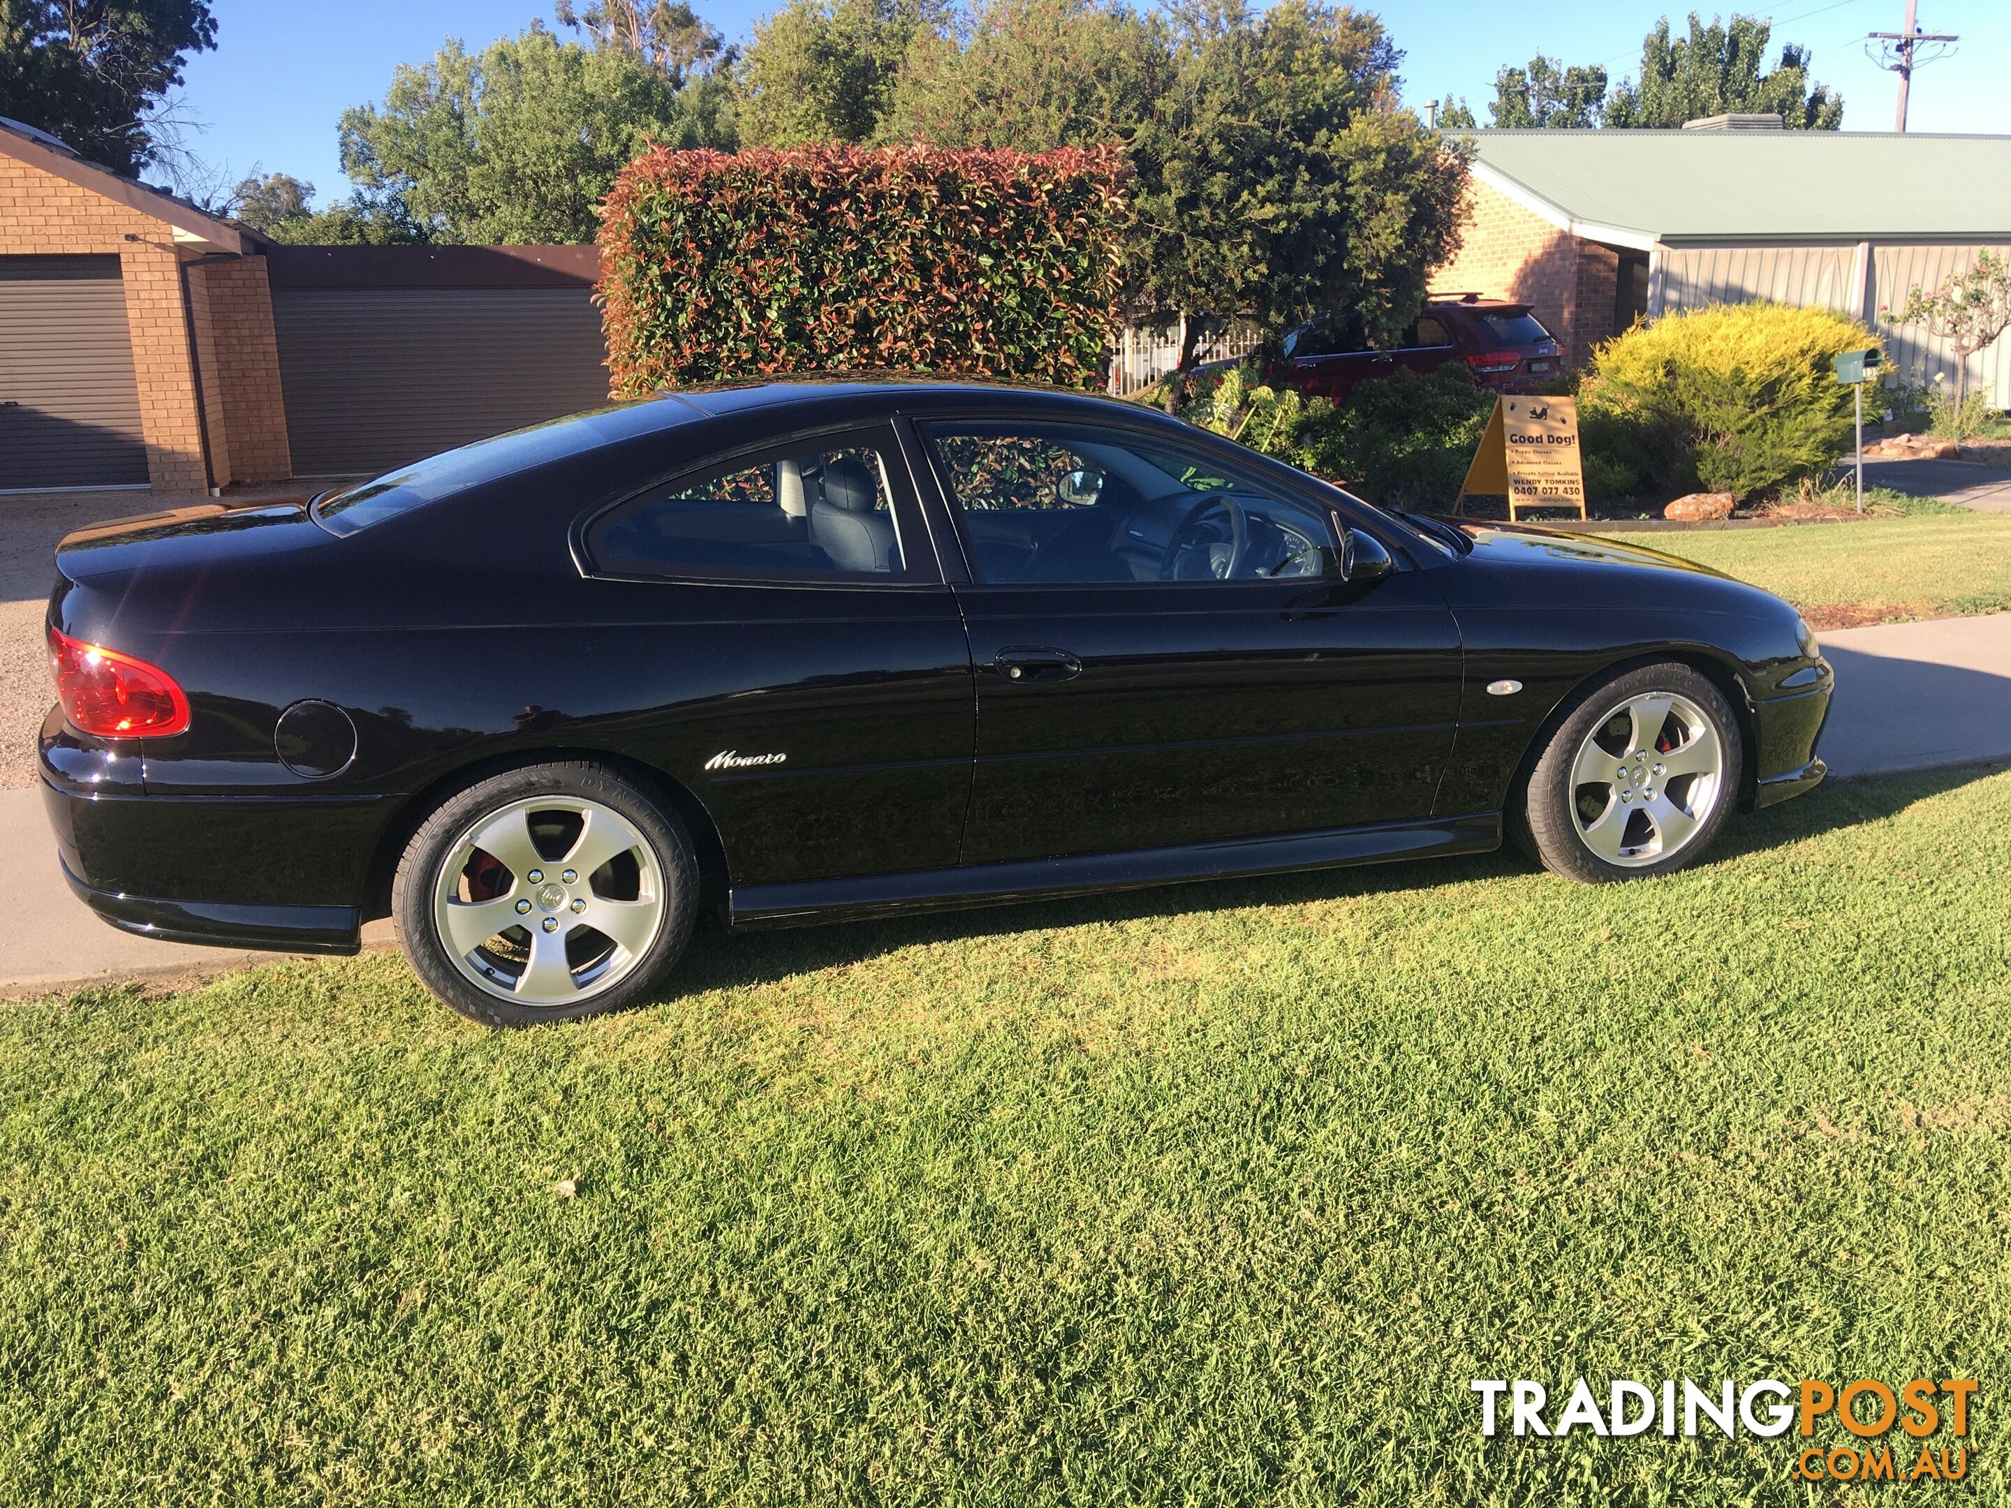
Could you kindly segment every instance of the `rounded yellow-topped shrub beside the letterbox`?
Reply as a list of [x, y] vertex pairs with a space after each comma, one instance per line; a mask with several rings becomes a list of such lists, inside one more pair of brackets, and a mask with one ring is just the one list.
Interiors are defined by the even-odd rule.
[[1593, 352], [1581, 416], [1641, 485], [1740, 499], [1834, 464], [1850, 444], [1850, 388], [1830, 362], [1876, 346], [1828, 310], [1717, 304], [1635, 326]]

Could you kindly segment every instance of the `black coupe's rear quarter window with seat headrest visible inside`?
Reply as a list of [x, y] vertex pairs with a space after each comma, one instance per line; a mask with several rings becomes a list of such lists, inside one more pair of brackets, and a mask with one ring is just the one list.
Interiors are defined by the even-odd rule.
[[587, 527], [587, 555], [595, 567], [625, 575], [905, 573], [881, 448], [831, 440], [633, 497]]

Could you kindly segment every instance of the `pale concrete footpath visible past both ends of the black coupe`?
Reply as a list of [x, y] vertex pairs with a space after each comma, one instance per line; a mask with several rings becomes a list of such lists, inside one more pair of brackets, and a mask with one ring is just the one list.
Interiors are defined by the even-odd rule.
[[[2011, 758], [2011, 613], [1842, 629], [1824, 633], [1822, 649], [1838, 686], [1822, 736], [1834, 776]], [[107, 927], [62, 883], [40, 790], [0, 790], [0, 851], [18, 877], [12, 925], [0, 933], [0, 997], [193, 979], [271, 957]], [[388, 923], [372, 923], [366, 945], [388, 943]]]

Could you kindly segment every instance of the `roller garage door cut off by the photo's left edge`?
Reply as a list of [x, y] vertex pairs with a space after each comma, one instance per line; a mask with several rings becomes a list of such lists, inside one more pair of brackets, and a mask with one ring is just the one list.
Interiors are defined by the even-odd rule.
[[145, 487], [119, 257], [0, 257], [0, 491]]

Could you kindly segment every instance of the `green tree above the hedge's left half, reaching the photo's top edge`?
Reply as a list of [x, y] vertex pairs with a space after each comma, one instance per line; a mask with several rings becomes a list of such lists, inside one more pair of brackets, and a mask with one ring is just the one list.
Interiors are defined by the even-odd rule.
[[750, 145], [875, 141], [909, 48], [949, 26], [947, 0], [788, 0], [754, 22], [734, 68]]

